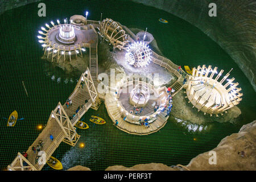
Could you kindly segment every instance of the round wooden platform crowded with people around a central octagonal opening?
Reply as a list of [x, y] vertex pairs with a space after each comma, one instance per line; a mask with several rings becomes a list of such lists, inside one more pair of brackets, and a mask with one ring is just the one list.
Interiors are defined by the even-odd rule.
[[[142, 83], [139, 82], [140, 84]], [[143, 84], [146, 84], [144, 82]], [[135, 85], [133, 81], [125, 82], [116, 93], [105, 95], [105, 105], [113, 123], [118, 121], [117, 127], [129, 134], [147, 135], [160, 130], [167, 122], [167, 109], [169, 99], [166, 87], [155, 89], [152, 85], [147, 84], [150, 88], [150, 100], [144, 107], [139, 107], [138, 111], [129, 102], [129, 92]], [[158, 109], [155, 110], [155, 106]], [[166, 106], [166, 107], [165, 107]], [[142, 111], [141, 111], [141, 108]], [[148, 126], [144, 124], [148, 123]]]

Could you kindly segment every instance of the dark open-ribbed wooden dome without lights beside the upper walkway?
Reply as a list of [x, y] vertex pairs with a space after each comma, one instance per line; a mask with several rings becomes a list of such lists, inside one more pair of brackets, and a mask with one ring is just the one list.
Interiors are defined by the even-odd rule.
[[128, 35], [125, 34], [121, 24], [112, 19], [104, 19], [100, 23], [102, 36], [107, 39], [114, 48], [123, 49], [128, 46]]

